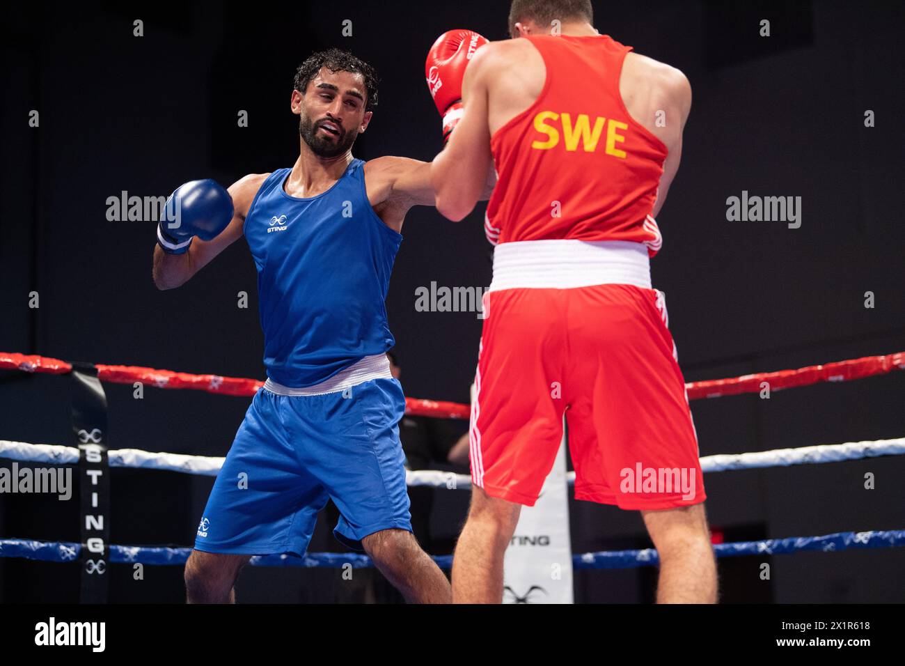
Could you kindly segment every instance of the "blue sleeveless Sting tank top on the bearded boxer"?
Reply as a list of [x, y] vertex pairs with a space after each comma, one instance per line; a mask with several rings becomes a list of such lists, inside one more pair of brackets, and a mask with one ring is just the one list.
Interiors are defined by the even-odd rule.
[[278, 169], [245, 217], [264, 365], [284, 386], [328, 380], [395, 343], [385, 301], [402, 236], [371, 208], [364, 166], [353, 159], [333, 187], [310, 198], [286, 194], [292, 169]]

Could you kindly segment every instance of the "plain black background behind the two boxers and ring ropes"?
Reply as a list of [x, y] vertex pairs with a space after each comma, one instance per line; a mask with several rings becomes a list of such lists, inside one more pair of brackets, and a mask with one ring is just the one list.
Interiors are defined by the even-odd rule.
[[[900, 3], [610, 3], [595, 26], [679, 67], [694, 102], [681, 169], [659, 217], [654, 284], [689, 381], [795, 368], [905, 349], [905, 232], [900, 217]], [[432, 159], [440, 119], [424, 85], [438, 34], [468, 27], [506, 36], [508, 3], [298, 2], [15, 5], [3, 41], [0, 350], [69, 361], [263, 377], [255, 271], [237, 242], [184, 287], [151, 282], [154, 224], [110, 222], [121, 190], [167, 195], [189, 179], [224, 184], [291, 166], [295, 67], [347, 48], [382, 78], [355, 153]], [[145, 36], [132, 36], [132, 21]], [[772, 35], [757, 36], [771, 21]], [[341, 35], [350, 19], [353, 36]], [[27, 124], [40, 111], [40, 128]], [[250, 126], [236, 126], [248, 111]], [[876, 127], [865, 128], [866, 110]], [[726, 198], [800, 196], [803, 223], [728, 222]], [[481, 322], [417, 313], [420, 285], [486, 286], [483, 204], [453, 224], [414, 208], [387, 309], [406, 394], [467, 401]], [[28, 294], [40, 294], [29, 309]], [[249, 307], [236, 306], [239, 292]], [[865, 292], [876, 306], [864, 307]], [[692, 403], [701, 455], [905, 434], [899, 373]], [[225, 455], [247, 399], [107, 385], [110, 447]], [[69, 445], [69, 380], [0, 372], [0, 438]], [[6, 463], [5, 463], [6, 464]], [[863, 489], [866, 472], [876, 489]], [[711, 526], [729, 540], [905, 527], [901, 458], [709, 474]], [[117, 544], [191, 545], [212, 479], [115, 470]], [[436, 533], [449, 549], [467, 494], [442, 492]], [[0, 496], [0, 536], [78, 538], [76, 501]], [[572, 502], [575, 552], [647, 545], [639, 516]], [[312, 550], [335, 547], [320, 525]], [[449, 552], [449, 549], [446, 552]], [[725, 600], [901, 602], [900, 549], [802, 553], [721, 563]], [[76, 601], [77, 565], [0, 559], [0, 599]], [[178, 601], [181, 567], [133, 582], [115, 567], [114, 601]], [[576, 574], [576, 601], [651, 598], [653, 570]], [[248, 570], [245, 601], [332, 601], [338, 572]]]

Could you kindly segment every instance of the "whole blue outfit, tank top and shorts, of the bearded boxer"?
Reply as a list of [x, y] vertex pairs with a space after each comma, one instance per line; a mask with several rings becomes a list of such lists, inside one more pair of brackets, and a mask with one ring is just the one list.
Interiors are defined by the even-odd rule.
[[302, 555], [328, 498], [341, 514], [334, 535], [355, 550], [377, 531], [412, 531], [384, 305], [402, 236], [368, 202], [363, 167], [352, 159], [311, 198], [288, 195], [291, 169], [277, 169], [245, 217], [268, 379], [214, 483], [197, 550]]

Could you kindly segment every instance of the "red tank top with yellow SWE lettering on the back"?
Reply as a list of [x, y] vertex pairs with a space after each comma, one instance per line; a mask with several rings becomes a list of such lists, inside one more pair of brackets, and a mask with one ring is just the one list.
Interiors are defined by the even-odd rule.
[[662, 245], [650, 216], [666, 146], [619, 94], [625, 54], [608, 35], [528, 37], [547, 81], [491, 138], [497, 186], [484, 229], [494, 245], [570, 238]]

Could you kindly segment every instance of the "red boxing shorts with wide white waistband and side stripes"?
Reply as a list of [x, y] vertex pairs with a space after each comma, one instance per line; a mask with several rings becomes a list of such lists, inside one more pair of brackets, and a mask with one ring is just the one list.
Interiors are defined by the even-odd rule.
[[[496, 253], [506, 246], [574, 243], [504, 244]], [[642, 261], [643, 252], [646, 262], [641, 244], [623, 245], [640, 246], [631, 260]], [[540, 266], [540, 282], [574, 284], [573, 277], [563, 282], [562, 275], [545, 273], [531, 249], [531, 261], [519, 271], [529, 265], [537, 275]], [[571, 256], [574, 248], [566, 249]], [[624, 248], [616, 249], [624, 258]], [[484, 296], [472, 483], [491, 497], [533, 506], [553, 468], [565, 415], [576, 499], [640, 510], [703, 502], [698, 439], [662, 292], [636, 284], [512, 287], [538, 280], [509, 279], [513, 271], [498, 259]], [[606, 275], [613, 270], [608, 261]], [[583, 279], [595, 279], [594, 272], [586, 266], [590, 278]]]

